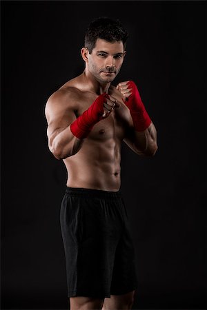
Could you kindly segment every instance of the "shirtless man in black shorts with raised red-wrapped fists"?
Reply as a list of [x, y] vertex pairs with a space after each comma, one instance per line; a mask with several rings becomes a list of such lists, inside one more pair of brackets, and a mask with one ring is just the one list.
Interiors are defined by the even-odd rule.
[[127, 37], [119, 21], [92, 21], [81, 49], [85, 70], [46, 104], [49, 148], [68, 171], [60, 220], [72, 310], [131, 309], [137, 288], [119, 192], [121, 141], [144, 156], [155, 154], [157, 142], [135, 83], [110, 84], [124, 61]]

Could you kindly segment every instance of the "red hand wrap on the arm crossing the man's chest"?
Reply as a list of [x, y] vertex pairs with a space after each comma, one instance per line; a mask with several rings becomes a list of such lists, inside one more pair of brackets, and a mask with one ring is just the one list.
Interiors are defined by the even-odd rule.
[[90, 105], [88, 110], [83, 112], [71, 125], [70, 131], [79, 139], [86, 138], [92, 127], [103, 119], [103, 103], [109, 98], [108, 94], [104, 92]]

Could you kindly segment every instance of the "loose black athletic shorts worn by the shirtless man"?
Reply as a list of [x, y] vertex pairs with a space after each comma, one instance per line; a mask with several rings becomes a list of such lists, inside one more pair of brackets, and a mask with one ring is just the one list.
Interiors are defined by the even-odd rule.
[[60, 210], [68, 297], [137, 288], [135, 249], [120, 192], [67, 187]]

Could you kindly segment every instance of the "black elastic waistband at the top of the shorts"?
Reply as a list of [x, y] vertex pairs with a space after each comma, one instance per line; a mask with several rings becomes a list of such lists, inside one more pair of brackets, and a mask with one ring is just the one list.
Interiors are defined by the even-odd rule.
[[117, 192], [109, 192], [103, 191], [101, 189], [88, 189], [81, 187], [66, 187], [66, 194], [71, 196], [83, 196], [83, 197], [91, 197], [91, 198], [121, 198], [121, 191]]

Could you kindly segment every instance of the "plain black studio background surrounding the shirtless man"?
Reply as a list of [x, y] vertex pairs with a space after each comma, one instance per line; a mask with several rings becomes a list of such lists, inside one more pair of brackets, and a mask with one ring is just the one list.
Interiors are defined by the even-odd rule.
[[139, 288], [133, 309], [204, 309], [203, 1], [1, 1], [1, 308], [67, 309], [59, 209], [66, 169], [50, 154], [44, 107], [81, 74], [84, 31], [119, 18], [159, 149], [122, 149], [121, 191]]

